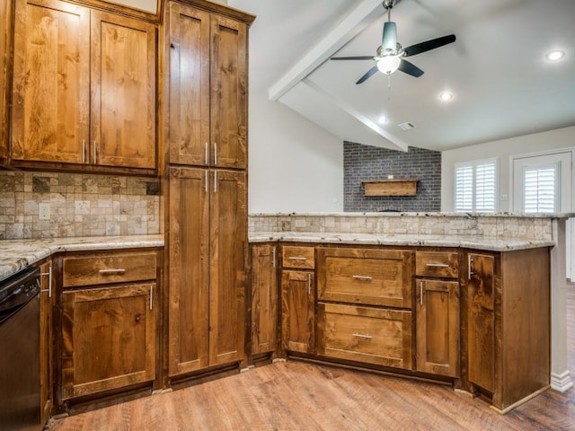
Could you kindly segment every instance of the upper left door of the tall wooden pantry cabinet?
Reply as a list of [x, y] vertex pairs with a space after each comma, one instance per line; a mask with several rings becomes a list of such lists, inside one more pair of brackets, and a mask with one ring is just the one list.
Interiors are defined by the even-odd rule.
[[171, 2], [169, 19], [169, 161], [208, 165], [209, 13]]

